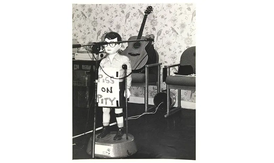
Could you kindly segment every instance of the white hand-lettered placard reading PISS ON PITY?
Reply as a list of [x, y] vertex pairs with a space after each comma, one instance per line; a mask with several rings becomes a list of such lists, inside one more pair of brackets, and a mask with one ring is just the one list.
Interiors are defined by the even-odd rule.
[[[97, 102], [98, 106], [119, 106], [119, 77], [118, 68], [100, 68], [98, 70]], [[107, 74], [107, 75], [106, 75]], [[111, 77], [114, 78], [111, 78]]]

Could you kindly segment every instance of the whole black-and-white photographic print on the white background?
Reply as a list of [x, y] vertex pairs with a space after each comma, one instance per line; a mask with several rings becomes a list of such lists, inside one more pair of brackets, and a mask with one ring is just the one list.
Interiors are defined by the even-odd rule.
[[196, 159], [195, 22], [195, 3], [72, 5], [73, 159]]

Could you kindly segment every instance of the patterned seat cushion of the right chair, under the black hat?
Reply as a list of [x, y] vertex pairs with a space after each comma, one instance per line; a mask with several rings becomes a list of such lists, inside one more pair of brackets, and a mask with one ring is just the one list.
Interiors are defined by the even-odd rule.
[[172, 76], [166, 78], [168, 85], [196, 86], [196, 77], [192, 76]]

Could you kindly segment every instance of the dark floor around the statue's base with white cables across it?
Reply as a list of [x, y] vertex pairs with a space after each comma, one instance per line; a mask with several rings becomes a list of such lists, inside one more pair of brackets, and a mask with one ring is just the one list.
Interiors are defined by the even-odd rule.
[[[89, 114], [88, 110], [88, 108], [73, 108], [73, 136], [93, 130], [94, 110], [90, 109]], [[144, 104], [128, 104], [128, 117], [143, 112]], [[157, 110], [155, 114], [146, 114], [138, 119], [128, 120], [128, 133], [134, 136], [138, 146], [138, 152], [128, 158], [195, 160], [195, 110], [182, 109], [167, 118], [164, 118], [164, 114], [164, 111]], [[96, 128], [102, 126], [100, 107], [97, 110], [96, 122]], [[113, 122], [116, 122], [114, 110], [111, 111], [110, 123]], [[117, 125], [111, 126], [111, 131], [116, 129]], [[99, 132], [101, 131], [96, 131]], [[76, 144], [73, 145], [73, 159], [92, 159], [92, 156], [86, 153], [88, 140], [92, 136], [93, 134], [89, 133], [73, 138], [73, 144]]]

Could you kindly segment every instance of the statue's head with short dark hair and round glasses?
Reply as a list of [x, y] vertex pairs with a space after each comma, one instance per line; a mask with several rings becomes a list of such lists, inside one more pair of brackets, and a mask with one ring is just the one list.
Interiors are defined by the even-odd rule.
[[[109, 32], [105, 36], [105, 41], [108, 43], [109, 42], [117, 42], [117, 41], [121, 41], [121, 40], [122, 40], [121, 36], [116, 32]], [[108, 54], [115, 54], [122, 47], [122, 43], [119, 43], [119, 44], [111, 43], [111, 44], [104, 45], [104, 47], [105, 47], [105, 51]]]

